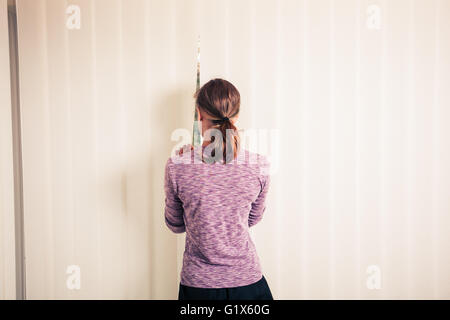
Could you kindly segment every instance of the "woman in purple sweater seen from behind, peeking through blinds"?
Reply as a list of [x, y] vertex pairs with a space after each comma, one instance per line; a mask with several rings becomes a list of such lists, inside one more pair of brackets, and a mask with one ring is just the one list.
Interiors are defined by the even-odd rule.
[[273, 299], [249, 234], [265, 211], [269, 164], [240, 146], [230, 82], [213, 79], [194, 97], [204, 143], [165, 168], [165, 222], [186, 232], [178, 299]]

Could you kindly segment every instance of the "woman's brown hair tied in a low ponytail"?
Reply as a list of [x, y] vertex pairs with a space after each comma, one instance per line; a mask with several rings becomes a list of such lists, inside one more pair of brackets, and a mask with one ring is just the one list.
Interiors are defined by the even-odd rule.
[[[222, 133], [223, 141], [214, 141], [219, 150], [223, 150], [224, 163], [237, 157], [240, 148], [240, 137], [231, 119], [239, 114], [241, 96], [236, 87], [224, 79], [212, 79], [205, 83], [194, 94], [195, 104], [200, 110], [211, 116], [211, 121]], [[218, 126], [218, 127], [217, 127]], [[227, 130], [232, 135], [231, 141], [227, 144]], [[230, 148], [227, 151], [227, 148]]]

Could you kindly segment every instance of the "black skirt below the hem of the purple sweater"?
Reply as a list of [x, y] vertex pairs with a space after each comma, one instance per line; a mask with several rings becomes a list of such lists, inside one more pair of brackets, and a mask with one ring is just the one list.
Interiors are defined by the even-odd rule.
[[234, 288], [194, 288], [182, 285], [178, 300], [273, 300], [264, 276], [261, 280]]

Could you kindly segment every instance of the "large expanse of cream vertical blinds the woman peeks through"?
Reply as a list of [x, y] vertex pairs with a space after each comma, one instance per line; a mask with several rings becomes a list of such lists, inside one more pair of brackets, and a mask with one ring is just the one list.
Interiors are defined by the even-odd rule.
[[202, 84], [229, 79], [239, 126], [279, 132], [253, 231], [274, 296], [450, 298], [448, 1], [18, 8], [28, 298], [176, 298], [163, 170], [192, 126], [199, 34]]

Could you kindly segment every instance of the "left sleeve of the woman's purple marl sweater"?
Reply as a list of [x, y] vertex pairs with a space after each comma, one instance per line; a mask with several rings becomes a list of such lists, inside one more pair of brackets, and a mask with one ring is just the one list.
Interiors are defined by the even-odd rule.
[[183, 217], [183, 203], [177, 195], [177, 187], [171, 176], [170, 164], [171, 161], [169, 158], [166, 163], [164, 177], [164, 191], [166, 194], [164, 216], [166, 225], [170, 230], [175, 233], [183, 233], [186, 231]]

